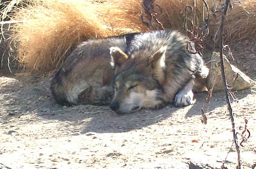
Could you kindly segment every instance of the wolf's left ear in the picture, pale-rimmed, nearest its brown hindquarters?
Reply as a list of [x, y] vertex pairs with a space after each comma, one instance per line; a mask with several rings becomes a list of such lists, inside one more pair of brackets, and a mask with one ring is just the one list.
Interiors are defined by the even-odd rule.
[[128, 56], [119, 47], [110, 47], [110, 55], [110, 64], [113, 68], [116, 65], [120, 67], [128, 59]]

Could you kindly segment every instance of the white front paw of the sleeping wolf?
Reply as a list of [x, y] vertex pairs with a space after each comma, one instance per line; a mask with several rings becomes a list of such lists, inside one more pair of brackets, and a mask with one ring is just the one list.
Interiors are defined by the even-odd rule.
[[192, 90], [187, 93], [185, 93], [184, 91], [180, 91], [175, 95], [174, 105], [176, 107], [183, 107], [190, 104], [193, 104]]

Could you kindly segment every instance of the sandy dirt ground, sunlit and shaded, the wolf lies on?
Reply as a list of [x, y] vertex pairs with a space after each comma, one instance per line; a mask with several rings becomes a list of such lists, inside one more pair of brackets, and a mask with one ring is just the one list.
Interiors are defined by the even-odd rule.
[[[243, 62], [239, 55], [254, 80], [255, 52], [245, 53]], [[169, 105], [120, 116], [107, 106], [57, 105], [49, 91], [51, 77], [0, 70], [0, 168], [189, 168], [190, 162], [220, 168], [227, 155], [225, 166], [236, 168], [223, 92], [213, 93], [210, 104], [204, 101], [205, 92], [187, 107]], [[236, 131], [242, 133], [246, 118], [251, 132], [240, 146], [242, 166], [251, 168], [256, 163], [256, 86], [235, 95]]]

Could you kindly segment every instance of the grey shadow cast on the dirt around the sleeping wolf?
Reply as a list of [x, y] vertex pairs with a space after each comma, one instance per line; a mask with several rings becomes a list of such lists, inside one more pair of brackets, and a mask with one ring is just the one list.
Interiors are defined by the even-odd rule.
[[[87, 132], [109, 133], [127, 132], [141, 129], [161, 122], [179, 113], [183, 108], [172, 105], [160, 110], [141, 110], [126, 115], [116, 115], [107, 106], [79, 105], [76, 107], [63, 107], [57, 105], [49, 91], [49, 77], [32, 77], [31, 75], [18, 74], [15, 77], [0, 77], [0, 122], [6, 123], [11, 119], [33, 114], [33, 119], [28, 118], [27, 123], [41, 120], [58, 120], [71, 122], [79, 126], [81, 134]], [[239, 99], [250, 93], [245, 90], [239, 94]], [[201, 108], [207, 107], [206, 112], [226, 104], [224, 93], [214, 93], [210, 105], [205, 104], [206, 93], [195, 95], [196, 103], [186, 113], [186, 117], [201, 116]], [[207, 105], [207, 106], [206, 106]]]

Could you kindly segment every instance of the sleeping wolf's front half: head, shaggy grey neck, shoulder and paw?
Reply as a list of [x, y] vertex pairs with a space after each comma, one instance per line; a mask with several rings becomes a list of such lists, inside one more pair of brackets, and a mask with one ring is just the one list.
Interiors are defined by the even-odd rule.
[[111, 65], [115, 67], [112, 110], [122, 114], [173, 101], [176, 106], [192, 104], [193, 86], [208, 70], [202, 58], [189, 53], [186, 45], [180, 33], [162, 30], [136, 35], [127, 55], [111, 47]]

